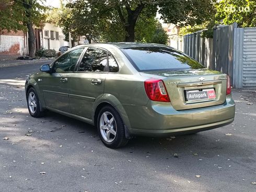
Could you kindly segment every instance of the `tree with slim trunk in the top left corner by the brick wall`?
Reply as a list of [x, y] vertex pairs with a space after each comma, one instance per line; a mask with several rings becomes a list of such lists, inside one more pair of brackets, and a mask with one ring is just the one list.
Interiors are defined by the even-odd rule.
[[[28, 31], [28, 55], [34, 57], [35, 36], [33, 27], [39, 27], [44, 19], [43, 11], [46, 7], [42, 5], [44, 0], [3, 0], [4, 5], [0, 9], [0, 30], [23, 30]], [[11, 10], [11, 11], [10, 11]]]

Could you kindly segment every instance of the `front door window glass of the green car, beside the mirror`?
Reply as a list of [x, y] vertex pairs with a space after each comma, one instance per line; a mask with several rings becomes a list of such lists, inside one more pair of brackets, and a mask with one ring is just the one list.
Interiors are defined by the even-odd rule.
[[79, 59], [79, 56], [82, 54], [83, 51], [84, 48], [80, 48], [64, 54], [54, 63], [52, 69], [53, 73], [64, 73], [73, 71]]

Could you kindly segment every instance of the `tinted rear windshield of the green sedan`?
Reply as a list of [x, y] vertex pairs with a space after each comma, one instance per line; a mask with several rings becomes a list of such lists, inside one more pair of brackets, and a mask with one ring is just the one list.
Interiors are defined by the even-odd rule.
[[194, 59], [169, 47], [132, 47], [122, 51], [138, 71], [205, 68]]

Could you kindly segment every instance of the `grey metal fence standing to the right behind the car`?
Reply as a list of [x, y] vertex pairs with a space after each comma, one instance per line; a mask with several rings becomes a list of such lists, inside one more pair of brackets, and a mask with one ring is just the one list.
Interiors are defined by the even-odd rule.
[[202, 31], [183, 37], [183, 52], [210, 69], [226, 73], [235, 88], [256, 89], [256, 28], [218, 26], [213, 39]]

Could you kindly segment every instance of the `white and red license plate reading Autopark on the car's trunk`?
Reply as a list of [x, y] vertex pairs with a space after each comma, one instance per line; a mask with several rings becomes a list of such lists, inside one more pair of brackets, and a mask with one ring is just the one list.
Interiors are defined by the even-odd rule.
[[214, 89], [203, 89], [202, 91], [199, 91], [199, 90], [186, 91], [186, 94], [187, 94], [187, 101], [216, 98]]

